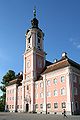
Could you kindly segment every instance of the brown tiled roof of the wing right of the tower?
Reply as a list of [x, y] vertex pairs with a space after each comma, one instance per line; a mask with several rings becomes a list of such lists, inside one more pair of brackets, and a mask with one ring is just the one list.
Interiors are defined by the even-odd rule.
[[42, 74], [54, 71], [54, 70], [58, 70], [67, 66], [73, 66], [77, 69], [80, 70], [80, 64], [74, 62], [73, 60], [69, 59], [69, 58], [64, 58], [61, 59], [55, 63], [53, 63], [52, 65], [47, 66], [47, 68], [45, 69], [45, 71]]

